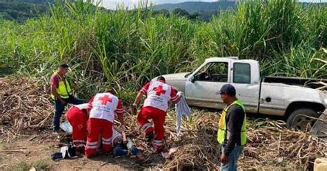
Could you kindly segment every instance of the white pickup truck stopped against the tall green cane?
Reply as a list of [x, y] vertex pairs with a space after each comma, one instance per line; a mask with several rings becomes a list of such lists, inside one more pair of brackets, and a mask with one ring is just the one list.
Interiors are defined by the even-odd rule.
[[246, 112], [285, 116], [288, 127], [300, 130], [313, 124], [313, 118], [327, 108], [326, 79], [260, 79], [259, 71], [255, 60], [212, 57], [193, 72], [163, 76], [170, 86], [185, 93], [189, 105], [205, 108], [224, 108], [216, 92], [230, 83], [236, 88], [237, 98], [244, 102]]

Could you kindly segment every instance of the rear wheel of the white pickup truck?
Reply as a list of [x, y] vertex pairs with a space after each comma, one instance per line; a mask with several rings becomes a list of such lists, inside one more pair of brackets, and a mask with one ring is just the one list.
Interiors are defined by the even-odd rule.
[[[319, 118], [319, 114], [310, 108], [300, 108], [294, 110], [287, 119], [286, 125], [288, 128], [295, 128], [296, 130], [306, 130], [308, 127], [308, 123], [310, 126], [313, 126], [313, 123], [317, 121]], [[310, 129], [310, 128], [309, 128]], [[310, 130], [308, 130], [310, 131]]]

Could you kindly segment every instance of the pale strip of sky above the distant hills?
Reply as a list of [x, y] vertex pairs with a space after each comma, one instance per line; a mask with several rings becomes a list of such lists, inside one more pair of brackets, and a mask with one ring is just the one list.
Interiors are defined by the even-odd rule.
[[[96, 0], [100, 1], [100, 0]], [[141, 0], [146, 1], [146, 0]], [[162, 4], [162, 3], [181, 3], [185, 1], [203, 1], [203, 2], [214, 2], [217, 0], [148, 0], [148, 4], [152, 3], [154, 5]], [[325, 2], [327, 3], [327, 0], [299, 0], [300, 2]], [[132, 8], [133, 6], [137, 6], [139, 3], [139, 0], [101, 0], [101, 6], [105, 8], [115, 9], [117, 5], [123, 4], [123, 6]]]

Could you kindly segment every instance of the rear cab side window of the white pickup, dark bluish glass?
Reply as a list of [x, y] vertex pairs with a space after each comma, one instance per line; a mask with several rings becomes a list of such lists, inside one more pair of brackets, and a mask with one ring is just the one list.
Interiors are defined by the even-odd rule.
[[232, 82], [233, 83], [250, 83], [251, 69], [248, 63], [234, 63]]

